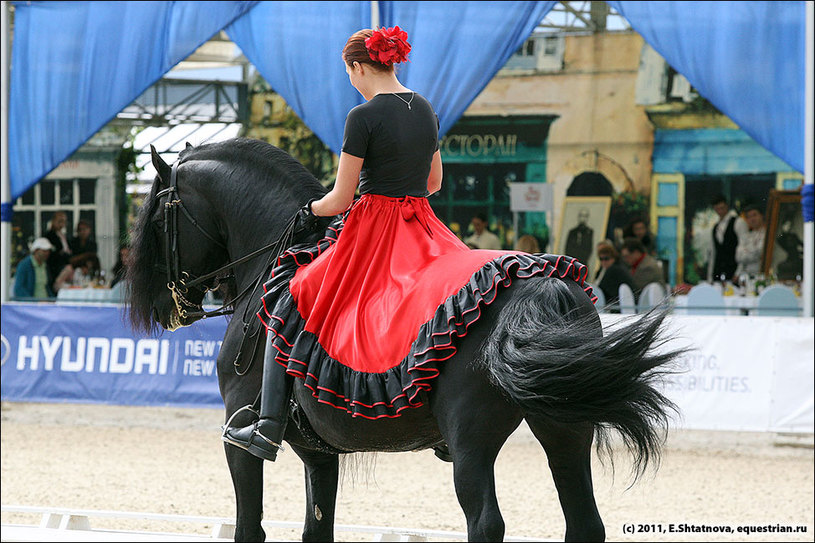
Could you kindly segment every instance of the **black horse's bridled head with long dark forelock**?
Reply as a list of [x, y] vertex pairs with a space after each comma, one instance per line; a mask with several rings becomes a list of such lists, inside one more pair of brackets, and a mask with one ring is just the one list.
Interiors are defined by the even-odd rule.
[[185, 163], [188, 144], [172, 166], [151, 146], [156, 178], [133, 231], [128, 305], [134, 328], [174, 330], [203, 315], [216, 279], [206, 277], [228, 259], [212, 195], [196, 182], [200, 163]]

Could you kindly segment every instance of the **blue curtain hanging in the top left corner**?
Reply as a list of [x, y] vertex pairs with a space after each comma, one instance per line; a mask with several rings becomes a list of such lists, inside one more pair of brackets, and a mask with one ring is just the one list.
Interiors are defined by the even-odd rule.
[[12, 201], [257, 2], [15, 2]]

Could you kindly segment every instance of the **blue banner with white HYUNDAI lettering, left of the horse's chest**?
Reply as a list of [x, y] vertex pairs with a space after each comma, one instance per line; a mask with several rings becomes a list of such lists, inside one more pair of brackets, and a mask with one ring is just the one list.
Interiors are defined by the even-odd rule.
[[2, 397], [220, 407], [226, 321], [137, 337], [119, 306], [3, 304]]

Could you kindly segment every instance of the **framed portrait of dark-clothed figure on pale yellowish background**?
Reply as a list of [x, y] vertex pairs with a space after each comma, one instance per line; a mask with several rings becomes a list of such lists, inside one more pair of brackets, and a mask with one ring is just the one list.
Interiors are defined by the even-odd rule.
[[611, 196], [567, 196], [560, 213], [555, 251], [577, 258], [593, 276], [595, 247], [606, 237], [610, 213]]

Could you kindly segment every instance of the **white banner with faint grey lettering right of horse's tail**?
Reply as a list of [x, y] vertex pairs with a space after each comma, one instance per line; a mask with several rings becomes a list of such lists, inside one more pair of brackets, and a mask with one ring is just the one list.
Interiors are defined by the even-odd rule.
[[[614, 326], [619, 315], [603, 315]], [[812, 318], [671, 316], [660, 350], [689, 346], [665, 394], [680, 428], [813, 432]]]

